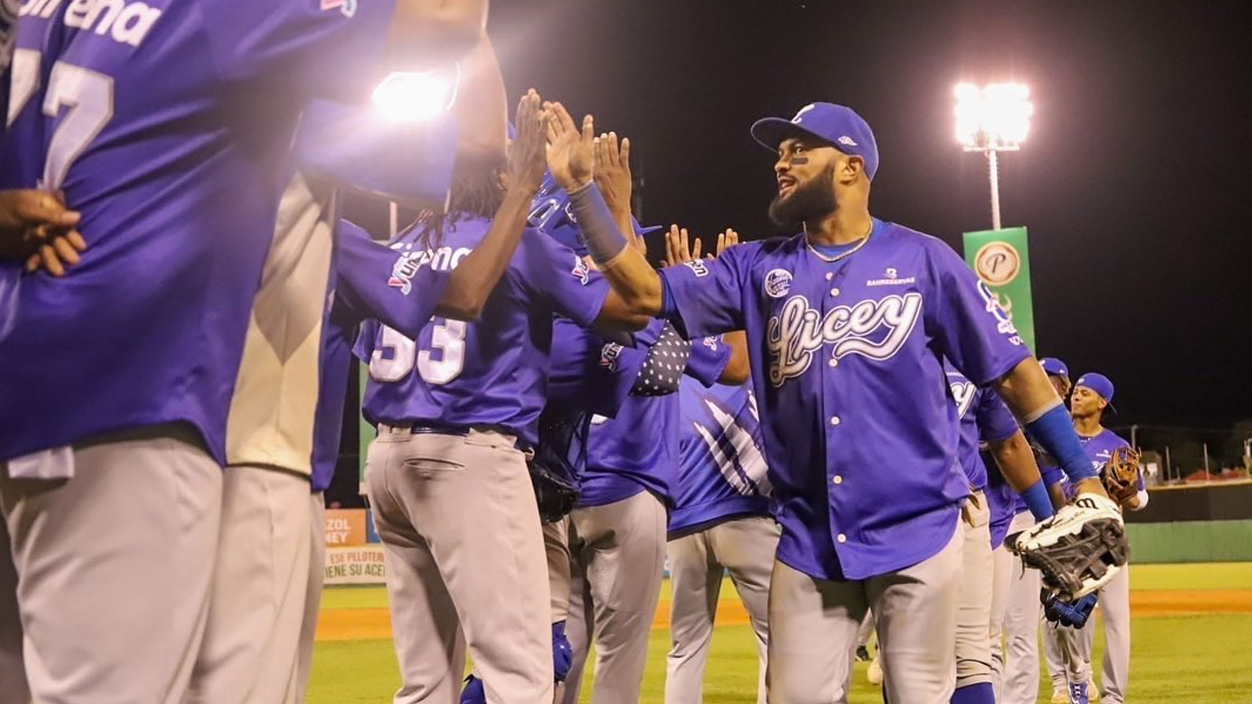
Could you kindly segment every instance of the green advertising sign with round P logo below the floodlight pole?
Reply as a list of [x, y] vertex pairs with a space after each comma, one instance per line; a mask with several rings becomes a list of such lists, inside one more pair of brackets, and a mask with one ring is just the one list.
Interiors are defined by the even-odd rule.
[[1034, 302], [1030, 298], [1030, 252], [1024, 227], [965, 233], [965, 262], [992, 289], [1013, 318], [1022, 339], [1034, 346]]

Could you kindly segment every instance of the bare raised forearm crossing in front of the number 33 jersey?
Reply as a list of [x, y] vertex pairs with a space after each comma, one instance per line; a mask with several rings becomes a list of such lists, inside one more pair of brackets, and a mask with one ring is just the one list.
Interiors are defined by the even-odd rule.
[[527, 188], [508, 189], [486, 237], [452, 271], [448, 288], [439, 298], [437, 314], [458, 321], [476, 321], [482, 316], [487, 298], [517, 251], [533, 198], [535, 193]]

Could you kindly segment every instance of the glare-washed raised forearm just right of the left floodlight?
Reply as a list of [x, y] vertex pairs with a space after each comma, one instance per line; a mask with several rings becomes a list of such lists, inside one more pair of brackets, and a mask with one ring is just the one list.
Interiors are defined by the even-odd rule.
[[452, 106], [457, 119], [457, 159], [496, 163], [508, 140], [508, 96], [496, 50], [486, 36], [461, 61], [461, 86]]

